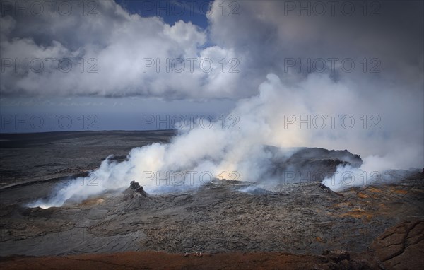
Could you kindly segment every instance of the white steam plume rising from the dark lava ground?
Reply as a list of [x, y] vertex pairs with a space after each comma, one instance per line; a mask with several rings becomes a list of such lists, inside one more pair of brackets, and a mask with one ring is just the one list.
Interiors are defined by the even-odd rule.
[[[422, 100], [404, 95], [393, 86], [364, 98], [360, 84], [348, 79], [335, 82], [327, 74], [310, 74], [295, 84], [290, 81], [290, 76], [281, 81], [275, 74], [268, 74], [259, 86], [259, 95], [240, 100], [229, 114], [240, 119], [236, 129], [215, 122], [210, 129], [203, 124], [182, 130], [168, 144], [134, 148], [122, 163], [104, 160], [93, 172], [95, 180], [91, 185], [76, 180], [51, 198], [30, 206], [61, 206], [69, 199], [81, 201], [109, 190], [126, 189], [131, 180], [140, 182], [151, 194], [193, 189], [213, 177], [257, 182], [259, 187], [273, 189], [281, 178], [264, 177], [269, 175], [272, 158], [266, 145], [348, 149], [360, 154], [364, 160], [361, 168], [338, 168], [336, 177], [324, 180], [334, 190], [381, 180], [377, 175], [388, 169], [423, 166], [423, 130], [416, 129], [423, 123], [423, 116], [419, 115]], [[382, 86], [380, 83], [375, 87]], [[326, 124], [308, 125], [308, 115], [311, 121], [322, 115], [319, 119], [326, 119]], [[334, 124], [328, 115], [338, 115]], [[343, 125], [343, 115], [350, 115], [354, 124], [346, 124], [346, 120]], [[369, 122], [364, 125], [360, 120], [363, 115], [378, 115], [379, 129], [370, 129]], [[293, 122], [293, 116], [298, 121]], [[291, 152], [281, 150], [280, 154]], [[353, 182], [346, 180], [343, 172], [353, 175]]]

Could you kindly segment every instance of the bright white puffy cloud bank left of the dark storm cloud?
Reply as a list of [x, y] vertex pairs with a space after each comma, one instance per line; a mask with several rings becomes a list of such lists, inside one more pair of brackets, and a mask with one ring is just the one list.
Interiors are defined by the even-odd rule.
[[[232, 96], [225, 86], [235, 88], [227, 81], [238, 75], [221, 72], [218, 62], [235, 58], [234, 52], [201, 49], [206, 31], [191, 22], [168, 25], [129, 14], [114, 1], [95, 1], [97, 16], [81, 16], [76, 2], [64, 2], [75, 12], [2, 13], [2, 95]], [[16, 72], [18, 63], [24, 67]]]

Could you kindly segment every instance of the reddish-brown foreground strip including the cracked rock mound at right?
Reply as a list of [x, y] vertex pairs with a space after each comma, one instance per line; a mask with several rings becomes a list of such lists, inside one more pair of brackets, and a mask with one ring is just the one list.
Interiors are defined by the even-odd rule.
[[1, 269], [409, 269], [424, 265], [424, 221], [404, 221], [386, 230], [364, 252], [324, 250], [322, 255], [282, 252], [219, 254], [124, 252], [61, 257], [11, 256]]

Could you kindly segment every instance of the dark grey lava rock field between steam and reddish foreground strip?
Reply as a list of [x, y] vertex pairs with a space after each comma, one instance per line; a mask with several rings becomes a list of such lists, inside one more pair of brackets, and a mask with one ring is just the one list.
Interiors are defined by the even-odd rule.
[[393, 225], [424, 219], [420, 174], [398, 184], [348, 189], [340, 192], [343, 196], [325, 192], [316, 182], [285, 184], [278, 192], [265, 193], [242, 192], [240, 186], [255, 188], [217, 181], [146, 197], [129, 188], [50, 209], [28, 209], [13, 201], [29, 196], [31, 186], [7, 189], [0, 192], [0, 256], [148, 250], [351, 254], [368, 250]]

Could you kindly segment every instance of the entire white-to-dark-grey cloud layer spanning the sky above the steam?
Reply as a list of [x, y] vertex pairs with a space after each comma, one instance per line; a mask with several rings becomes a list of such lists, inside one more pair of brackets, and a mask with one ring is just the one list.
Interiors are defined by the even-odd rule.
[[[51, 14], [45, 4], [41, 16], [2, 11], [2, 58], [28, 59], [27, 66], [41, 59], [44, 64], [40, 73], [23, 68], [16, 73], [16, 63], [2, 63], [3, 95], [237, 100], [257, 94], [266, 74], [297, 83], [323, 63], [322, 73], [335, 81], [361, 81], [366, 96], [394, 84], [417, 94], [423, 82], [419, 2], [378, 2], [364, 8], [337, 1], [334, 7], [324, 3], [322, 13], [312, 2], [302, 10], [298, 1], [237, 1], [232, 6], [213, 1], [206, 30], [182, 20], [168, 25], [160, 17], [131, 14], [114, 1], [94, 1], [95, 16], [87, 16], [88, 7], [81, 16], [76, 2], [56, 3]], [[69, 16], [59, 12], [61, 3], [73, 5]], [[53, 71], [46, 58], [58, 59]], [[61, 59], [72, 61], [69, 71], [58, 69]], [[307, 61], [311, 63], [301, 66]], [[343, 70], [352, 63], [353, 71]], [[33, 64], [37, 69], [40, 63]], [[67, 70], [68, 61], [62, 64]]]

